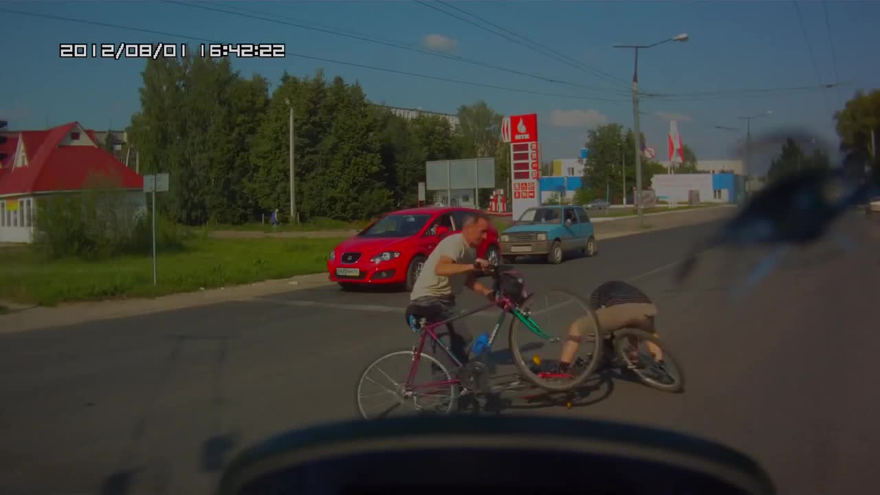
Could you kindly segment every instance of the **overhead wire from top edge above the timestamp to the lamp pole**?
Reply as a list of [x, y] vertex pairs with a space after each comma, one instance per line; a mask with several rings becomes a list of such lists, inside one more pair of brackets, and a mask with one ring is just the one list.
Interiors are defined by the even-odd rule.
[[[570, 82], [570, 81], [565, 81], [565, 80], [561, 80], [561, 79], [546, 78], [546, 77], [544, 77], [544, 76], [539, 76], [539, 75], [537, 75], [537, 74], [533, 74], [533, 73], [529, 73], [529, 72], [524, 72], [524, 71], [522, 71], [522, 70], [509, 69], [509, 68], [506, 68], [506, 67], [500, 67], [500, 66], [497, 66], [497, 65], [493, 65], [493, 64], [485, 63], [485, 62], [480, 62], [480, 61], [473, 60], [473, 59], [468, 59], [468, 58], [466, 58], [466, 57], [462, 57], [462, 56], [458, 56], [458, 55], [440, 54], [440, 53], [436, 53], [436, 52], [433, 52], [433, 51], [430, 51], [430, 50], [426, 50], [426, 49], [422, 49], [422, 48], [415, 48], [415, 47], [412, 47], [412, 46], [408, 46], [408, 45], [406, 45], [406, 44], [399, 43], [399, 42], [380, 40], [380, 39], [378, 39], [378, 38], [371, 37], [371, 36], [369, 36], [369, 35], [362, 34], [362, 33], [352, 33], [352, 32], [348, 32], [348, 33], [346, 33], [346, 32], [341, 31], [341, 30], [336, 30], [336, 29], [331, 29], [331, 28], [326, 28], [326, 27], [320, 27], [320, 26], [307, 26], [307, 25], [304, 25], [304, 24], [300, 24], [300, 23], [298, 23], [298, 22], [297, 22], [297, 19], [292, 19], [292, 18], [286, 18], [287, 21], [285, 21], [285, 20], [279, 20], [279, 18], [284, 18], [284, 17], [282, 17], [282, 16], [275, 16], [275, 17], [277, 17], [277, 18], [258, 17], [258, 16], [255, 16], [255, 15], [249, 15], [249, 14], [247, 14], [247, 13], [242, 13], [242, 12], [236, 12], [236, 11], [225, 10], [225, 9], [217, 8], [217, 7], [214, 7], [214, 6], [187, 4], [187, 3], [184, 3], [184, 2], [175, 2], [175, 1], [172, 1], [172, 0], [165, 0], [165, 3], [166, 3], [166, 4], [176, 4], [176, 5], [179, 5], [179, 6], [182, 6], [182, 7], [191, 7], [191, 8], [194, 8], [194, 9], [203, 9], [203, 10], [206, 10], [206, 11], [216, 11], [216, 12], [221, 12], [221, 13], [224, 13], [224, 14], [229, 14], [229, 15], [233, 15], [233, 16], [239, 16], [239, 17], [243, 17], [243, 18], [252, 18], [252, 19], [262, 20], [262, 21], [266, 21], [266, 22], [273, 22], [273, 23], [275, 23], [275, 24], [282, 24], [282, 25], [285, 25], [285, 26], [298, 27], [298, 28], [306, 29], [306, 30], [310, 30], [310, 31], [317, 31], [317, 32], [319, 32], [319, 33], [333, 34], [334, 36], [341, 36], [341, 37], [344, 37], [344, 38], [354, 39], [354, 40], [358, 40], [358, 41], [367, 41], [367, 42], [370, 42], [370, 43], [376, 43], [376, 44], [378, 44], [378, 45], [384, 45], [384, 46], [386, 46], [386, 47], [400, 48], [400, 49], [405, 49], [405, 50], [413, 51], [413, 52], [416, 52], [416, 53], [421, 53], [421, 54], [424, 54], [424, 55], [432, 55], [432, 56], [436, 56], [436, 57], [440, 57], [440, 58], [445, 58], [445, 59], [449, 59], [449, 60], [454, 60], [454, 61], [456, 61], [456, 62], [470, 63], [470, 64], [472, 64], [472, 65], [478, 65], [478, 66], [481, 66], [481, 67], [486, 67], [486, 68], [488, 68], [488, 69], [502, 70], [502, 71], [504, 71], [504, 72], [510, 72], [510, 73], [512, 73], [512, 74], [517, 74], [517, 75], [519, 75], [519, 76], [524, 76], [524, 77], [527, 77], [527, 78], [534, 78], [534, 79], [538, 79], [538, 80], [545, 81], [545, 82], [548, 82], [548, 83], [554, 83], [554, 84], [559, 84], [559, 85], [569, 85], [569, 86], [579, 87], [579, 88], [588, 89], [588, 90], [592, 90], [592, 91], [598, 91], [598, 92], [611, 92], [612, 94], [619, 95], [619, 96], [626, 96], [626, 95], [627, 95], [626, 93], [621, 92], [621, 91], [605, 90], [605, 89], [603, 89], [603, 88], [594, 88], [594, 87], [590, 87], [590, 86], [587, 86], [587, 85], [581, 85], [581, 84], [577, 84], [577, 83], [572, 83], [572, 82]], [[227, 8], [228, 8], [228, 7], [227, 7]], [[244, 11], [244, 12], [248, 12], [248, 11], [249, 11], [249, 12], [251, 12], [252, 14], [259, 14], [260, 16], [275, 15], [275, 14], [268, 14], [267, 12], [253, 11], [253, 10], [248, 10], [248, 9], [243, 9], [243, 8], [235, 8], [235, 9], [236, 9], [236, 10], [239, 10], [239, 11]], [[372, 39], [370, 39], [370, 38], [372, 38]]]

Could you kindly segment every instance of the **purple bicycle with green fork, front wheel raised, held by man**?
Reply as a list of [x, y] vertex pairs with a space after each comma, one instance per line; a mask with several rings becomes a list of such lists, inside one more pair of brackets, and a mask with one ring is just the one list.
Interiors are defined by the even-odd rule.
[[[553, 325], [561, 327], [563, 331], [567, 331], [568, 323], [583, 315], [588, 315], [596, 321], [596, 314], [590, 310], [589, 305], [582, 298], [567, 291], [550, 291], [542, 298], [550, 299], [548, 296], [561, 296], [562, 299], [568, 299], [568, 301], [549, 305], [540, 312], [532, 311], [534, 294], [525, 290], [524, 281], [520, 274], [510, 270], [510, 267], [493, 265], [483, 275], [493, 278], [495, 302], [489, 302], [484, 306], [444, 321], [429, 321], [431, 320], [429, 314], [407, 314], [407, 317], [410, 315], [416, 317], [417, 325], [414, 331], [417, 332], [418, 337], [411, 349], [388, 352], [372, 361], [363, 371], [356, 385], [356, 405], [361, 417], [368, 419], [385, 417], [392, 411], [408, 404], [413, 406], [414, 412], [417, 414], [449, 414], [456, 408], [458, 398], [464, 395], [495, 395], [532, 387], [543, 388], [551, 392], [565, 392], [581, 386], [596, 371], [601, 361], [602, 345], [597, 345], [592, 352], [587, 352], [588, 358], [580, 359], [578, 366], [573, 367], [572, 373], [554, 373], [542, 370], [540, 366], [542, 361], [537, 355], [528, 358], [524, 356], [524, 352], [529, 351], [530, 344], [524, 343], [524, 339], [528, 337], [538, 337], [538, 342], [532, 344], [532, 349], [549, 346], [552, 355], [560, 355], [564, 339], [550, 336], [542, 329], [541, 325], [535, 321], [535, 317], [539, 313], [553, 315], [558, 314], [562, 307], [569, 305], [574, 307], [575, 315], [564, 318], [560, 325]], [[502, 311], [488, 336], [488, 343], [463, 365], [453, 352], [439, 340], [436, 329], [451, 321], [478, 314], [490, 307], [499, 307]], [[491, 373], [489, 373], [487, 366], [488, 359], [492, 344], [495, 343], [495, 337], [508, 314], [513, 316], [510, 321], [509, 349], [517, 373], [509, 380], [493, 384], [492, 379], [498, 377], [490, 376]], [[546, 326], [550, 325], [546, 324]], [[598, 329], [598, 327], [598, 321], [596, 321], [594, 328]], [[517, 333], [517, 329], [521, 328], [528, 330], [528, 332], [524, 332], [524, 336]], [[583, 337], [582, 342], [601, 342], [598, 335]], [[456, 364], [454, 369], [448, 369], [439, 359], [431, 355], [425, 346], [429, 344], [429, 339], [433, 341], [433, 344], [436, 344], [430, 347], [444, 352], [451, 358], [451, 361]], [[399, 368], [392, 367], [395, 361], [400, 363]], [[423, 366], [420, 368], [420, 365]], [[399, 369], [400, 371], [387, 372], [385, 368]], [[427, 373], [420, 374], [425, 371]], [[375, 388], [375, 392], [370, 392], [370, 388]], [[389, 398], [390, 405], [385, 408], [377, 408], [371, 403], [372, 399], [376, 397]], [[377, 412], [373, 413], [373, 410], [377, 410]]]

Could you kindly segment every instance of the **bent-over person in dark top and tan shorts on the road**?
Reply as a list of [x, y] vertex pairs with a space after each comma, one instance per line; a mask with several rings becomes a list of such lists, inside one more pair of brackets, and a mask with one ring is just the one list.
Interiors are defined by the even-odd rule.
[[[590, 307], [596, 312], [599, 329], [603, 336], [620, 329], [641, 329], [659, 338], [656, 331], [655, 317], [657, 307], [647, 294], [633, 284], [620, 280], [612, 280], [599, 285], [590, 294]], [[582, 358], [575, 359], [577, 348], [583, 336], [597, 335], [594, 333], [596, 321], [584, 316], [571, 323], [568, 336], [562, 344], [562, 353], [557, 365], [557, 373], [571, 373], [572, 362], [576, 366], [583, 363]], [[638, 340], [629, 338], [633, 350], [628, 353], [631, 363], [638, 363]], [[656, 344], [648, 342], [651, 354], [658, 363], [663, 363], [663, 350]], [[633, 367], [633, 366], [630, 366]]]

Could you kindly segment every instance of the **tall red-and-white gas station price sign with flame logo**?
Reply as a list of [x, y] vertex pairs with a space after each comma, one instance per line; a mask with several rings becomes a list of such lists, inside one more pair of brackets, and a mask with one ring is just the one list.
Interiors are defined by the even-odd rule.
[[540, 204], [540, 146], [538, 115], [510, 115], [501, 124], [502, 140], [510, 143], [510, 181], [513, 184], [511, 213], [519, 218]]

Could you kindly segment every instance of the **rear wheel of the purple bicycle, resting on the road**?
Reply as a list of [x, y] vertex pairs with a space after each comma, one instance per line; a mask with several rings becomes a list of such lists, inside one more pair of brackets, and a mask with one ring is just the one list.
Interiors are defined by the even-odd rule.
[[[448, 383], [433, 386], [432, 383], [455, 380], [446, 366], [427, 352], [422, 352], [419, 358], [420, 369], [416, 370], [414, 382], [407, 389], [406, 382], [413, 366], [415, 352], [394, 351], [374, 360], [364, 368], [361, 377], [357, 380], [355, 403], [357, 411], [364, 419], [374, 417], [386, 417], [392, 410], [398, 409], [411, 403], [415, 413], [449, 414], [458, 400], [458, 384]], [[380, 367], [382, 365], [382, 367]], [[392, 367], [392, 372], [385, 371], [385, 367]], [[422, 368], [428, 373], [419, 373]], [[371, 372], [377, 372], [376, 378], [371, 378]], [[400, 377], [395, 380], [393, 377]], [[378, 389], [378, 393], [366, 393], [365, 390]], [[391, 399], [391, 406], [379, 410], [378, 414], [372, 414], [368, 400], [376, 396], [384, 396]], [[434, 403], [432, 408], [429, 404]]]

